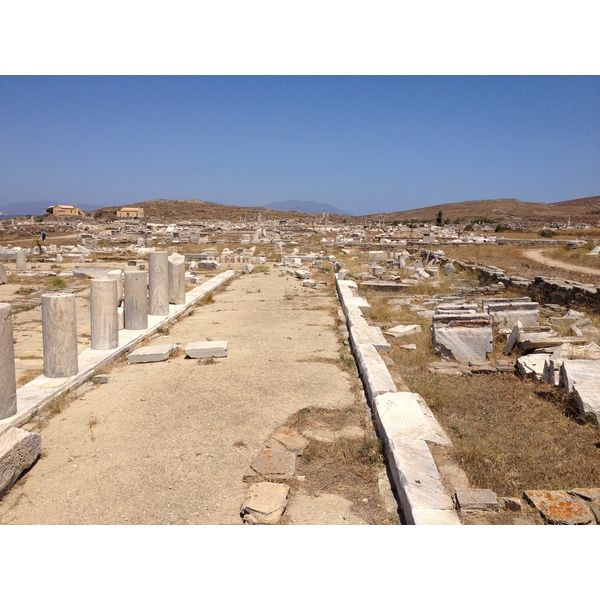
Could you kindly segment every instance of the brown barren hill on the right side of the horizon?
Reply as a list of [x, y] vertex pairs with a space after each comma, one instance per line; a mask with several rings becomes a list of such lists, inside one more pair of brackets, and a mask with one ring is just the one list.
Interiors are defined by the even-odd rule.
[[469, 200], [436, 204], [424, 208], [415, 208], [392, 213], [376, 213], [368, 218], [376, 220], [382, 216], [386, 222], [393, 221], [433, 221], [442, 211], [442, 218], [450, 222], [460, 220], [469, 222], [489, 220], [504, 223], [512, 227], [542, 227], [551, 223], [589, 223], [596, 225], [600, 219], [600, 196], [578, 198], [544, 204], [524, 202], [515, 198], [497, 200]]

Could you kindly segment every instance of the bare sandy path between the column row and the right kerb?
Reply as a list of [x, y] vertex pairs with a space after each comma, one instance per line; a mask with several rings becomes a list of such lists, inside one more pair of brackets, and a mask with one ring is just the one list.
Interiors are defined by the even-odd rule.
[[[243, 476], [273, 430], [302, 408], [344, 408], [356, 397], [332, 362], [331, 289], [302, 288], [271, 266], [214, 300], [151, 343], [226, 340], [227, 358], [115, 363], [108, 384], [47, 421], [42, 456], [0, 500], [0, 523], [242, 523]], [[362, 522], [344, 498], [314, 502], [298, 499], [290, 522]]]

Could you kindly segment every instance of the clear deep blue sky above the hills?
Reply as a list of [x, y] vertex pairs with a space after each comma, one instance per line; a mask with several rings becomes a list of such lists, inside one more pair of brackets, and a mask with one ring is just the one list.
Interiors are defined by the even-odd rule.
[[598, 76], [3, 76], [0, 205], [600, 194]]

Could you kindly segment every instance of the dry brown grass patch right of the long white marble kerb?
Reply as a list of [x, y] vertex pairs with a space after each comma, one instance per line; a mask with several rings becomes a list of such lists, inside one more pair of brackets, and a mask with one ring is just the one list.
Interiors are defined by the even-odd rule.
[[[390, 372], [426, 400], [452, 440], [451, 458], [472, 486], [520, 497], [526, 489], [599, 485], [600, 431], [576, 417], [570, 398], [513, 374], [431, 374], [428, 364], [440, 358], [432, 347], [430, 319], [403, 307], [395, 321], [418, 323], [422, 331], [391, 340]], [[498, 357], [504, 342], [503, 336], [496, 340]], [[406, 343], [416, 343], [417, 350], [401, 349]]]

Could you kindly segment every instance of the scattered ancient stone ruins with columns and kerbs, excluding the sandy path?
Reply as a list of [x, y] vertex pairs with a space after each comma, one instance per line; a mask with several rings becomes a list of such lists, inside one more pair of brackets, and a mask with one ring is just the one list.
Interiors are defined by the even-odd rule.
[[[18, 232], [19, 221], [9, 221], [4, 231]], [[431, 378], [502, 374], [514, 385], [543, 382], [570, 398], [573, 418], [597, 428], [600, 330], [590, 317], [600, 307], [600, 287], [510, 276], [453, 258], [452, 248], [501, 241], [441, 223], [415, 229], [328, 222], [325, 215], [196, 223], [129, 216], [65, 222], [62, 233], [55, 223], [43, 245], [0, 240], [0, 496], [37, 467], [44, 433], [28, 425], [57, 398], [108, 381], [110, 374], [99, 372], [120, 357], [132, 365], [162, 363], [177, 352], [206, 364], [227, 360], [235, 352], [230, 340], [198, 332], [179, 347], [163, 332], [203, 302], [218, 303], [231, 281], [260, 282], [271, 269], [294, 282], [293, 294], [329, 294], [337, 303], [340, 343], [351, 352], [381, 441], [398, 524], [458, 525], [469, 515], [518, 515], [526, 507], [542, 523], [600, 522], [600, 480], [504, 497], [471, 487], [459, 468], [448, 476], [436, 457], [438, 449], [452, 450], [451, 432], [429, 399], [403, 381], [402, 365], [390, 370], [390, 352], [418, 351], [411, 339], [425, 332], [437, 353], [427, 367]], [[369, 298], [412, 311], [419, 323], [397, 317], [376, 324]], [[296, 461], [309, 448], [306, 432], [281, 424], [253, 449], [240, 523], [285, 522], [292, 482], [304, 481]]]

